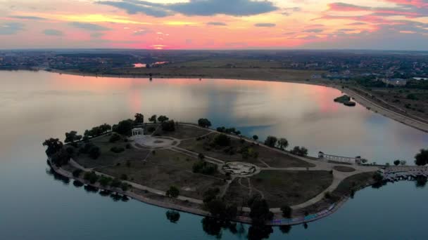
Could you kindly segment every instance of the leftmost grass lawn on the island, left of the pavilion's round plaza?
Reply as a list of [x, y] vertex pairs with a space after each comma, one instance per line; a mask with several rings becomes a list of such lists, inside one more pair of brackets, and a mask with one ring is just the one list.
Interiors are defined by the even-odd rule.
[[[101, 155], [97, 159], [92, 159], [87, 154], [79, 154], [78, 156], [74, 156], [73, 159], [85, 168], [95, 168], [99, 166], [114, 165], [121, 161], [142, 160], [146, 158], [146, 155], [149, 153], [149, 150], [146, 149], [126, 149], [125, 146], [128, 142], [118, 140], [117, 142], [112, 143], [108, 141], [109, 139], [110, 135], [103, 135], [91, 140], [91, 142], [98, 146], [101, 151]], [[123, 147], [125, 148], [125, 151], [114, 153], [110, 151], [111, 147]], [[75, 152], [78, 151], [76, 150]]]

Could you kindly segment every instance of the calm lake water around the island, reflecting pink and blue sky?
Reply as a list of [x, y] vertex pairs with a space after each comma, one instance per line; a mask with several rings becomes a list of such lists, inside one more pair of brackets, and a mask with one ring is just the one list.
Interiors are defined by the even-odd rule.
[[[42, 141], [65, 131], [166, 114], [178, 121], [210, 119], [245, 135], [286, 137], [377, 163], [405, 159], [428, 147], [428, 135], [364, 107], [333, 102], [340, 91], [322, 86], [212, 79], [121, 79], [49, 72], [0, 72], [0, 239], [215, 239], [196, 215], [169, 222], [165, 209], [110, 197], [54, 180]], [[398, 182], [355, 194], [329, 217], [291, 227], [296, 239], [426, 239], [427, 189]], [[238, 229], [239, 225], [238, 225]], [[248, 227], [222, 239], [246, 239]], [[215, 232], [215, 231], [213, 231]], [[274, 228], [270, 239], [286, 237]]]

